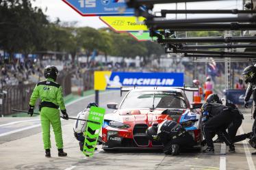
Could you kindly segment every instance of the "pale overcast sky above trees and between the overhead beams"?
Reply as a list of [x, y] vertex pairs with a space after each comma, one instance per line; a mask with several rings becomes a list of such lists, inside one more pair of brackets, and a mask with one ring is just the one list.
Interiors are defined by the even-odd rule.
[[[66, 3], [62, 0], [36, 0], [31, 1], [34, 6], [42, 8], [45, 14], [49, 16], [50, 20], [55, 20], [56, 18], [60, 18], [62, 21], [77, 21], [77, 27], [107, 27], [104, 23], [99, 20], [98, 17], [84, 17], [79, 15], [75, 10], [71, 9]], [[175, 10], [176, 5], [174, 3], [170, 4], [161, 4], [156, 5], [154, 11], [159, 11], [161, 9], [164, 10]], [[231, 1], [207, 1], [207, 2], [200, 2], [200, 3], [187, 3], [188, 10], [199, 10], [199, 9], [218, 9], [218, 10], [225, 10], [225, 9], [235, 9], [235, 8], [242, 8], [242, 1], [241, 0], [231, 0]], [[47, 10], [46, 10], [47, 9]], [[185, 3], [178, 4], [178, 10], [184, 10]], [[188, 15], [188, 18], [198, 18], [198, 17], [214, 17], [223, 15]], [[233, 15], [235, 16], [235, 15]], [[168, 18], [175, 18], [175, 15], [170, 15]], [[177, 18], [185, 18], [184, 14], [180, 14]]]

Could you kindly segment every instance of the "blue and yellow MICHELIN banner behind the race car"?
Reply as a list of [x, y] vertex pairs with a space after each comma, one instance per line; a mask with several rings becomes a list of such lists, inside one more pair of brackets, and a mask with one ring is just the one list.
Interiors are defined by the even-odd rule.
[[182, 87], [184, 74], [181, 72], [94, 72], [94, 89], [116, 89], [121, 86]]

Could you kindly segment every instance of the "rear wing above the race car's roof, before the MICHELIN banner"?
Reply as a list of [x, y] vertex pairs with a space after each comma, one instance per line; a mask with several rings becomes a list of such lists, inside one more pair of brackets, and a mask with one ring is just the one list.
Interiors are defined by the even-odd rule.
[[[143, 89], [146, 87], [150, 87], [150, 86], [122, 86], [120, 87], [120, 96], [122, 96], [123, 92], [127, 92], [127, 91], [131, 91], [132, 89]], [[152, 86], [151, 86], [152, 87]], [[157, 89], [157, 87], [153, 87], [154, 89]], [[183, 87], [170, 87], [172, 89], [181, 89], [184, 92], [185, 91], [199, 91], [198, 87], [185, 87], [185, 85]]]

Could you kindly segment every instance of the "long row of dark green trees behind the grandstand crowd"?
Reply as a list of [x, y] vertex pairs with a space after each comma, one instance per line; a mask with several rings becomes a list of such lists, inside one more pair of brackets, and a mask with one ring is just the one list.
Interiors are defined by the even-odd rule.
[[40, 8], [33, 8], [30, 0], [0, 0], [0, 49], [10, 54], [38, 51], [83, 53], [92, 51], [122, 57], [145, 57], [164, 54], [155, 42], [137, 42], [127, 33], [115, 33], [107, 28], [75, 27], [59, 19], [50, 22]]

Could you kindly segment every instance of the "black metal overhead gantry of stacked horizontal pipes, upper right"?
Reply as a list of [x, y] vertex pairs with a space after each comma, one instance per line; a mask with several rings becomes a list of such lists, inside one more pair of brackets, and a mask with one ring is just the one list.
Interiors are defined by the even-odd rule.
[[[129, 8], [134, 8], [136, 16], [146, 18], [144, 24], [149, 28], [151, 37], [166, 48], [166, 53], [181, 53], [183, 57], [192, 57], [193, 61], [225, 62], [225, 87], [231, 88], [231, 62], [255, 61], [255, 52], [244, 52], [242, 48], [256, 48], [256, 36], [242, 36], [243, 31], [256, 30], [255, 0], [246, 4], [246, 8], [233, 10], [177, 10], [177, 3], [203, 2], [209, 0], [126, 0]], [[225, 1], [225, 0], [210, 0]], [[237, 0], [233, 0], [237, 1]], [[255, 5], [253, 5], [253, 2]], [[176, 3], [176, 10], [153, 12], [157, 4]], [[245, 3], [241, 0], [241, 4]], [[174, 4], [175, 5], [175, 4]], [[244, 5], [244, 4], [243, 4]], [[233, 17], [170, 19], [168, 14], [231, 14]], [[180, 31], [223, 31], [218, 37], [177, 38]], [[232, 36], [231, 31], [241, 31], [240, 36]], [[229, 32], [229, 33], [227, 33]], [[237, 52], [240, 50], [240, 52]]]

